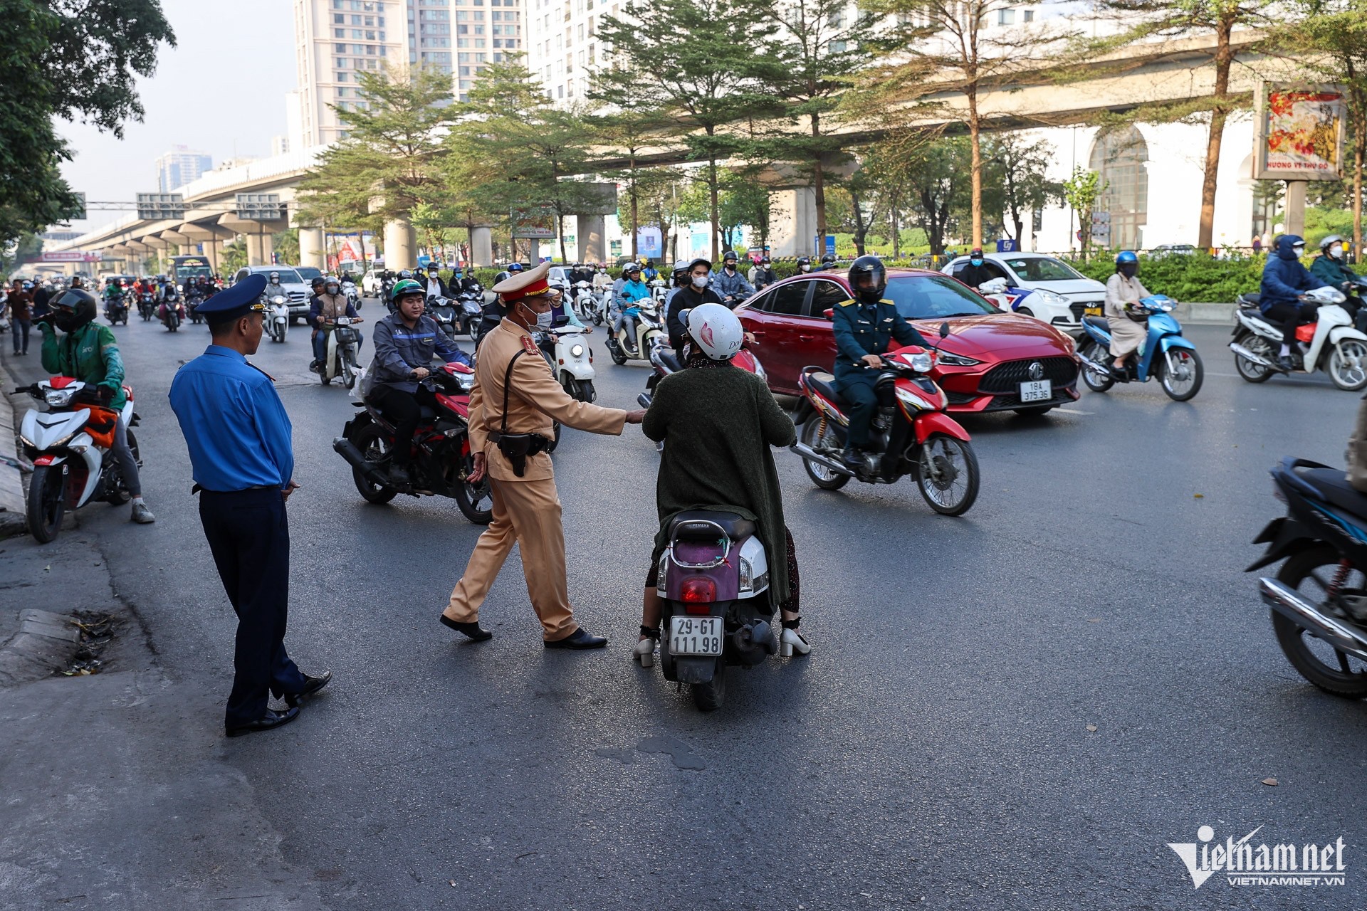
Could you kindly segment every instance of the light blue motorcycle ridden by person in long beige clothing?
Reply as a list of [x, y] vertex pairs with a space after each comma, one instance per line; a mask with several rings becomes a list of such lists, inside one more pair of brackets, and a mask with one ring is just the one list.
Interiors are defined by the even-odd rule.
[[1173, 402], [1187, 402], [1200, 392], [1206, 370], [1196, 346], [1182, 337], [1182, 328], [1172, 316], [1176, 306], [1176, 300], [1161, 294], [1126, 305], [1131, 320], [1147, 324], [1148, 337], [1131, 355], [1124, 370], [1110, 366], [1110, 322], [1102, 317], [1084, 317], [1077, 359], [1083, 362], [1087, 388], [1106, 392], [1117, 382], [1148, 382], [1156, 377]]

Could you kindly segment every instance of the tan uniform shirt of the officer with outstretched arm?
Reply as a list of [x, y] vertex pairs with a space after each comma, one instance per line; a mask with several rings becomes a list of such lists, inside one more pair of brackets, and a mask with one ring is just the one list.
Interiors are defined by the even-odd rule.
[[509, 433], [539, 433], [555, 438], [555, 421], [567, 428], [589, 433], [622, 434], [626, 411], [603, 408], [571, 399], [551, 374], [551, 367], [526, 329], [503, 320], [499, 328], [480, 343], [474, 366], [474, 388], [470, 391], [470, 451], [483, 452], [488, 459], [489, 477], [495, 481], [545, 481], [555, 477], [551, 455], [539, 452], [528, 458], [522, 477], [489, 441], [489, 432], [499, 430], [503, 417], [503, 376], [509, 361], [518, 351], [526, 351], [513, 365], [509, 382]]

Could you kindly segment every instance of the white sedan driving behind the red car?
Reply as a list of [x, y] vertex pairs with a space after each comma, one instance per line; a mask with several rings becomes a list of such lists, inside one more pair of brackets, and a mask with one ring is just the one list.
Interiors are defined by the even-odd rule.
[[[1083, 331], [1087, 310], [1099, 310], [1106, 302], [1106, 285], [1043, 253], [987, 253], [983, 262], [995, 281], [984, 283], [992, 291], [980, 290], [997, 306], [1074, 336]], [[945, 272], [957, 279], [966, 265], [968, 257], [958, 257], [950, 260]]]

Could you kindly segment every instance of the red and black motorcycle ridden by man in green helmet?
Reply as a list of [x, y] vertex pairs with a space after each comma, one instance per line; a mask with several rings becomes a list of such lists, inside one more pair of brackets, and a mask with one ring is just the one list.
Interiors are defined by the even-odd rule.
[[413, 434], [409, 464], [411, 482], [390, 481], [394, 463], [394, 425], [368, 402], [347, 421], [332, 448], [351, 464], [355, 489], [368, 503], [388, 503], [399, 493], [409, 496], [451, 497], [476, 524], [493, 520], [493, 496], [488, 475], [470, 483], [474, 455], [470, 452], [470, 387], [474, 372], [463, 363], [447, 363], [431, 374], [436, 384], [436, 408], [422, 406], [422, 419]]

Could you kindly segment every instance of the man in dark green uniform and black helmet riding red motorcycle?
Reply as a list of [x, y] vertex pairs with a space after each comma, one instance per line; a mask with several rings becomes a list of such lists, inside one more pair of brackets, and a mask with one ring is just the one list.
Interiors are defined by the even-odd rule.
[[[849, 283], [854, 299], [835, 307], [831, 322], [835, 332], [835, 389], [849, 406], [849, 430], [845, 440], [845, 462], [857, 466], [858, 451], [868, 445], [868, 425], [878, 408], [874, 384], [878, 356], [895, 339], [899, 344], [930, 344], [910, 322], [902, 318], [891, 300], [883, 299], [887, 290], [887, 268], [878, 257], [860, 257], [850, 264]], [[874, 367], [869, 370], [868, 367]]]

